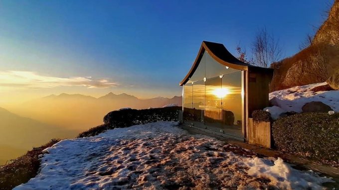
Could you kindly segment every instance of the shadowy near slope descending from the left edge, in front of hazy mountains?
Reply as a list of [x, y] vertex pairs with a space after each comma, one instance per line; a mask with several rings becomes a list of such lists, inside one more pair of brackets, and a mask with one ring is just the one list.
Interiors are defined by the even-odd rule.
[[21, 117], [0, 107], [0, 165], [52, 138], [74, 137], [75, 132]]

